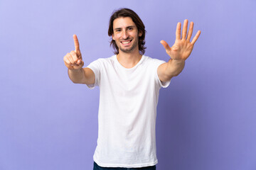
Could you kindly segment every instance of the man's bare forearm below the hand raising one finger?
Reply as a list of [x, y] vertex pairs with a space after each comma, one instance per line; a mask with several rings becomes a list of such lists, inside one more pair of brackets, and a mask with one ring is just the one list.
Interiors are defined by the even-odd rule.
[[85, 71], [81, 69], [68, 69], [68, 76], [75, 84], [85, 84]]

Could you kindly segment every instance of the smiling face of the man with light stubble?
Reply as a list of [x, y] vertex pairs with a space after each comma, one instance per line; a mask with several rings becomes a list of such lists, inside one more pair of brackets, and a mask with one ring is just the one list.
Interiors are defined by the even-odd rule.
[[114, 33], [113, 40], [122, 52], [139, 51], [139, 37], [142, 33], [138, 33], [137, 26], [130, 17], [116, 18], [113, 22]]

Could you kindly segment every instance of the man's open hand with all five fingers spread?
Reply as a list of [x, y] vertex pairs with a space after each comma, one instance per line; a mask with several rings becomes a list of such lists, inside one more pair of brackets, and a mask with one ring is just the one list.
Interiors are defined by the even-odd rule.
[[182, 30], [182, 37], [181, 37], [181, 23], [177, 24], [176, 28], [176, 40], [174, 42], [174, 45], [170, 47], [166, 41], [161, 40], [161, 44], [166, 49], [166, 53], [171, 57], [172, 60], [183, 60], [185, 61], [189, 55], [191, 55], [191, 52], [193, 50], [193, 45], [196, 43], [196, 40], [198, 40], [199, 35], [201, 34], [201, 30], [198, 30], [193, 40], [191, 40], [191, 36], [193, 33], [193, 22], [190, 23], [189, 30], [188, 30], [188, 36], [187, 35], [187, 29], [188, 29], [188, 20], [184, 20], [183, 23], [183, 30]]

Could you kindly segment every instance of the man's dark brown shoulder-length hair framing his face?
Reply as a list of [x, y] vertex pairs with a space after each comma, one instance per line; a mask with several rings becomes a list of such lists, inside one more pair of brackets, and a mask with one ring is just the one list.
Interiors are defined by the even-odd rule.
[[[112, 13], [112, 16], [110, 17], [108, 35], [109, 36], [113, 35], [113, 33], [114, 33], [113, 22], [116, 18], [120, 18], [120, 17], [130, 17], [130, 18], [132, 18], [132, 21], [137, 26], [138, 34], [142, 33], [142, 36], [139, 37], [139, 51], [141, 52], [142, 55], [144, 55], [145, 49], [146, 49], [146, 47], [144, 47], [144, 45], [145, 45], [145, 35], [146, 35], [145, 26], [144, 26], [144, 23], [142, 22], [141, 18], [139, 18], [139, 16], [137, 15], [137, 13], [135, 13], [131, 9], [121, 8], [121, 9], [119, 9], [117, 11], [114, 11]], [[114, 54], [118, 55], [119, 48], [117, 47], [117, 44], [114, 40], [111, 40], [110, 46], [112, 46], [114, 48], [114, 50], [115, 50]]]

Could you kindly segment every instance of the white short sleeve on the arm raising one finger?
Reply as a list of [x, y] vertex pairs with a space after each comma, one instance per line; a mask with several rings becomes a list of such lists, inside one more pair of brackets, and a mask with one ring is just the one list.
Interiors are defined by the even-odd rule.
[[89, 89], [94, 89], [95, 86], [99, 86], [100, 84], [100, 66], [102, 65], [102, 61], [100, 59], [91, 62], [87, 67], [92, 69], [92, 72], [95, 74], [95, 84], [87, 84]]

